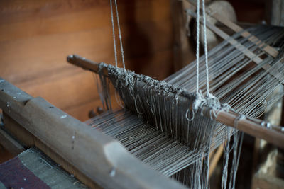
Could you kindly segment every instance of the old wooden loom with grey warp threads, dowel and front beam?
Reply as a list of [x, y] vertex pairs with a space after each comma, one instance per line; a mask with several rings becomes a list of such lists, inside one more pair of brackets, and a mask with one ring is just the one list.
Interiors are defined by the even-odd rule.
[[[188, 13], [195, 16], [192, 11]], [[24, 142], [27, 139], [21, 134], [32, 135], [38, 140], [35, 146], [45, 153], [50, 151], [49, 156], [57, 161], [67, 161], [62, 166], [67, 171], [75, 168], [84, 175], [75, 176], [87, 183], [107, 188], [184, 187], [167, 178], [172, 177], [192, 188], [206, 188], [209, 152], [230, 140], [231, 135], [234, 151], [239, 151], [241, 134], [236, 129], [279, 147], [284, 144], [283, 127], [256, 119], [263, 113], [263, 101], [284, 81], [283, 28], [261, 25], [238, 30], [229, 37], [213, 25], [207, 26], [225, 38], [209, 52], [210, 92], [222, 102], [217, 102], [219, 106], [213, 111], [208, 103], [195, 110], [195, 81], [190, 79], [196, 75], [195, 62], [165, 81], [155, 81], [71, 55], [68, 62], [99, 74], [104, 105], [109, 110], [87, 121], [87, 126], [42, 98], [32, 98], [1, 79], [0, 107], [6, 120], [13, 120], [7, 130]], [[273, 55], [271, 50], [275, 50], [271, 46], [278, 48]], [[203, 56], [200, 58], [203, 92], [204, 78]], [[109, 82], [128, 110], [111, 110]], [[275, 96], [267, 102], [268, 106], [282, 96]], [[25, 132], [20, 132], [23, 128]], [[226, 142], [225, 149], [229, 147]], [[238, 159], [234, 157], [236, 166]], [[234, 188], [235, 173], [225, 177], [231, 177], [229, 188]]]

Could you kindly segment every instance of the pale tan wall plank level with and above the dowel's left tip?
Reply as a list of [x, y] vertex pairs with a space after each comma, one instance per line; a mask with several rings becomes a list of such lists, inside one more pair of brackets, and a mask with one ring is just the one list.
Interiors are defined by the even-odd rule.
[[[131, 42], [133, 40], [132, 37], [124, 38], [125, 44], [129, 45], [125, 47], [126, 52], [131, 47], [133, 49], [131, 50], [132, 55], [126, 55], [126, 62], [127, 59], [154, 55], [156, 52], [170, 49], [172, 43], [164, 39], [168, 38], [171, 31], [169, 29], [165, 30], [164, 25], [165, 23], [155, 25], [155, 30], [145, 29], [144, 31], [147, 34], [134, 43]], [[142, 26], [147, 27], [147, 25]], [[129, 29], [131, 30], [132, 28]], [[130, 30], [127, 33], [126, 31], [123, 32], [126, 35], [130, 35]], [[162, 30], [163, 33], [160, 33]], [[3, 67], [2, 73], [11, 79], [14, 77], [11, 75], [13, 73], [21, 77], [29, 76], [29, 79], [33, 79], [35, 76], [40, 76], [41, 74], [47, 75], [48, 72], [53, 72], [56, 69], [66, 68], [65, 57], [73, 52], [96, 58], [99, 62], [114, 62], [114, 52], [112, 52], [113, 41], [109, 36], [111, 36], [109, 28], [101, 28], [99, 30], [87, 30], [80, 33], [56, 34], [27, 40], [0, 42], [0, 61], [11, 62], [11, 64], [6, 64], [6, 67]], [[133, 36], [138, 37], [139, 35]], [[150, 38], [150, 36], [153, 37]], [[133, 47], [133, 45], [138, 46]], [[143, 50], [144, 48], [148, 48], [148, 50]], [[17, 52], [17, 56], [14, 56], [15, 52]], [[47, 55], [47, 52], [50, 54]], [[22, 64], [25, 64], [26, 67], [21, 67]], [[30, 76], [28, 73], [36, 75]], [[11, 79], [9, 81], [15, 82]]]

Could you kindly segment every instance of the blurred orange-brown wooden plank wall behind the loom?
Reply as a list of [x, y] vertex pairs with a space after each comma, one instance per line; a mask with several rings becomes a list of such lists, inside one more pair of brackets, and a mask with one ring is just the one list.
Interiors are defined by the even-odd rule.
[[[118, 3], [126, 67], [156, 79], [171, 74], [170, 1]], [[100, 101], [92, 74], [66, 63], [73, 53], [114, 62], [109, 1], [0, 1], [0, 76], [87, 120]]]

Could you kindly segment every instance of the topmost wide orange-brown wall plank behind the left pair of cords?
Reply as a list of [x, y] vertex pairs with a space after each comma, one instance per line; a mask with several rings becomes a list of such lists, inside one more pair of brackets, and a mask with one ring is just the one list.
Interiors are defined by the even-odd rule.
[[[169, 5], [162, 2], [161, 0], [155, 0], [151, 4], [147, 1], [120, 2], [121, 27], [129, 27], [129, 24], [135, 22], [150, 24], [170, 21]], [[74, 1], [71, 6], [64, 1], [45, 2], [45, 4], [31, 1], [30, 4], [28, 2], [18, 3], [19, 8], [35, 6], [23, 11], [22, 14], [14, 11], [12, 13], [1, 13], [0, 11], [0, 41], [105, 27], [111, 30], [109, 1], [97, 2], [97, 4], [92, 1], [89, 2], [89, 6], [88, 3], [82, 1]], [[78, 9], [73, 6], [78, 6]], [[136, 8], [135, 15], [125, 16], [124, 13], [131, 13], [131, 8]], [[151, 11], [152, 8], [159, 11]]]

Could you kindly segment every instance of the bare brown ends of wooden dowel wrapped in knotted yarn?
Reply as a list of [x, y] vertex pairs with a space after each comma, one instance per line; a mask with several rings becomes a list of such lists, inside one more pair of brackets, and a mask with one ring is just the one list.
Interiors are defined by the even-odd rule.
[[[67, 57], [67, 61], [76, 65], [77, 67], [82, 67], [83, 69], [94, 71], [95, 73], [99, 71], [99, 66], [97, 63], [78, 55], [70, 55]], [[101, 73], [104, 76], [108, 76], [107, 69], [102, 69]], [[225, 112], [221, 110], [217, 113], [217, 118], [215, 118], [215, 120], [223, 123], [224, 125], [235, 127], [236, 129], [246, 132], [253, 137], [265, 139], [266, 141], [271, 142], [278, 147], [284, 147], [284, 133], [281, 131], [282, 127], [270, 125], [268, 128], [263, 126], [268, 124], [262, 120], [249, 117], [239, 120], [239, 116], [240, 114], [238, 113]], [[236, 120], [239, 121], [236, 122]], [[275, 128], [277, 130], [275, 130]]]

